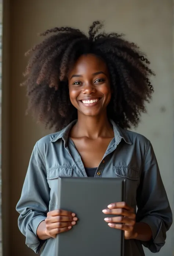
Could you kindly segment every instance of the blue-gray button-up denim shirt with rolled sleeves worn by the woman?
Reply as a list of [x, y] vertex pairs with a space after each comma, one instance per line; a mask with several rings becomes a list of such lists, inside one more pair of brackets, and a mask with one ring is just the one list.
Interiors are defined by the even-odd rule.
[[[37, 141], [16, 208], [26, 245], [36, 253], [44, 245], [42, 256], [57, 256], [56, 238], [41, 241], [36, 231], [47, 212], [57, 209], [58, 177], [87, 177], [80, 155], [68, 136], [73, 125], [74, 122]], [[138, 208], [137, 222], [147, 223], [152, 229], [153, 239], [149, 242], [125, 240], [125, 256], [144, 256], [142, 245], [151, 252], [159, 252], [172, 224], [172, 213], [152, 145], [144, 136], [123, 130], [114, 122], [112, 125], [115, 137], [98, 166], [95, 179], [124, 177], [126, 202], [135, 211]]]

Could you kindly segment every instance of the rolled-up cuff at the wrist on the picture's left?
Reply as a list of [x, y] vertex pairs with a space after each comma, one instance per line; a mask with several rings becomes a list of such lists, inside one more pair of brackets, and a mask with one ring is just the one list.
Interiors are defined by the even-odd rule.
[[39, 253], [41, 247], [44, 244], [44, 240], [40, 240], [37, 237], [37, 227], [45, 220], [45, 216], [36, 216], [30, 220], [26, 228], [26, 245], [31, 248], [35, 253]]

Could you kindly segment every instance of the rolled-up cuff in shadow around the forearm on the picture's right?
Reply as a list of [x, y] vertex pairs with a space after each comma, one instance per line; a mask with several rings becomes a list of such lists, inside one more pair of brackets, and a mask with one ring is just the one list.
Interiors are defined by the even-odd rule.
[[140, 222], [148, 224], [152, 230], [152, 239], [148, 242], [142, 241], [142, 245], [153, 253], [159, 252], [165, 244], [166, 239], [166, 231], [163, 230], [163, 221], [155, 216], [148, 216]]

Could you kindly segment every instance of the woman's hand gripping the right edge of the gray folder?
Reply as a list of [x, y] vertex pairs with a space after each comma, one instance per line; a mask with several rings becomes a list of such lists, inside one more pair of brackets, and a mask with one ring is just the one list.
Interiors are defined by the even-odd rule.
[[136, 214], [134, 209], [125, 202], [111, 203], [108, 209], [102, 211], [105, 214], [121, 215], [115, 217], [106, 217], [104, 220], [108, 222], [109, 227], [124, 230], [125, 239], [135, 239], [137, 233], [134, 231]]

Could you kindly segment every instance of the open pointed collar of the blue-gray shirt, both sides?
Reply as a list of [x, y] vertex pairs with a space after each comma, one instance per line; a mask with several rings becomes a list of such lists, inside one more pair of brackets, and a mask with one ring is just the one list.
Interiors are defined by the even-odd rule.
[[[58, 133], [55, 133], [54, 137], [51, 138], [50, 142], [56, 142], [57, 140], [62, 138], [65, 141], [65, 143], [67, 143], [68, 136], [69, 136], [69, 131], [71, 130], [73, 125], [75, 125], [76, 122], [77, 122], [77, 120], [74, 120], [68, 126], [66, 126], [64, 129], [62, 129]], [[123, 139], [127, 144], [132, 144], [131, 141], [130, 141], [130, 138], [128, 138], [128, 135], [127, 135], [126, 131], [124, 129], [122, 129], [121, 127], [117, 126], [116, 123], [113, 122], [113, 120], [110, 120], [110, 122], [113, 125], [115, 143], [119, 144], [120, 141]]]

